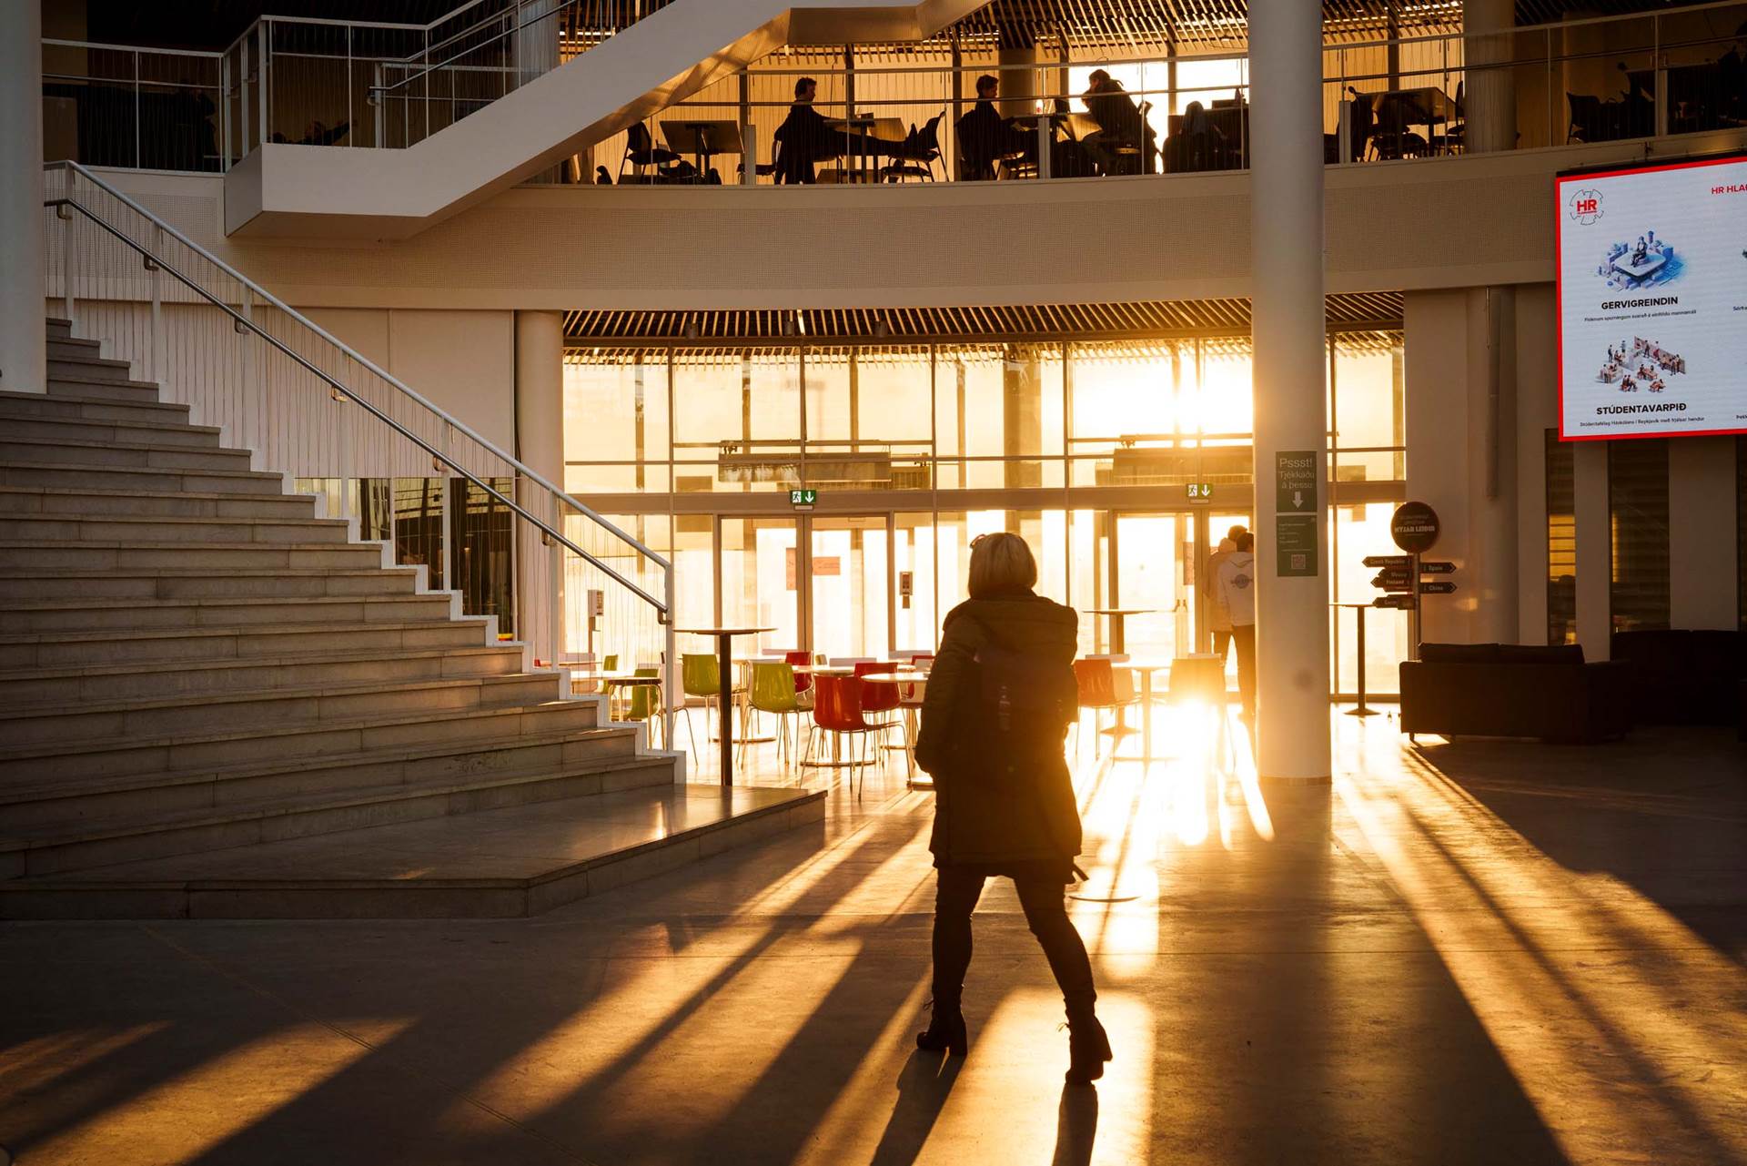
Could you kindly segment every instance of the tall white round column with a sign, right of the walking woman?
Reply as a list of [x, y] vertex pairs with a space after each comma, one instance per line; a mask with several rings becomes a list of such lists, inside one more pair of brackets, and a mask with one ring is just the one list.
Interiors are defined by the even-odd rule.
[[1322, 5], [1251, 2], [1256, 769], [1296, 781], [1331, 771], [1321, 56]]

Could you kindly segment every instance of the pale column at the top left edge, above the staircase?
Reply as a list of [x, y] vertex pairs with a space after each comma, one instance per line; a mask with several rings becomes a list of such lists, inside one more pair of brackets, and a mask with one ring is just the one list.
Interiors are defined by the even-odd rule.
[[47, 390], [42, 295], [42, 5], [0, 5], [0, 390]]

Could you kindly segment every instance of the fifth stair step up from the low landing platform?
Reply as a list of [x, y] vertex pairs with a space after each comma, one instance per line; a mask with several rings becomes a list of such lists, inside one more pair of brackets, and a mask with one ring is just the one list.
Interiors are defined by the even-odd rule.
[[224, 661], [143, 661], [0, 671], [0, 706], [75, 704], [199, 692], [267, 692], [346, 684], [501, 677], [522, 670], [519, 645], [330, 652]]

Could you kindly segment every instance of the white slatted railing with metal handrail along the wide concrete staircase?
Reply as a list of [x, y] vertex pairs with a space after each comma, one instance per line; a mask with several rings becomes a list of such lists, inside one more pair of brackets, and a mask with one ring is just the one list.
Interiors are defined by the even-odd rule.
[[[250, 449], [255, 468], [425, 565], [466, 614], [496, 615], [535, 666], [608, 654], [659, 666], [673, 741], [669, 559], [79, 163], [45, 164], [44, 187], [51, 311]], [[514, 416], [512, 385], [477, 392]]]

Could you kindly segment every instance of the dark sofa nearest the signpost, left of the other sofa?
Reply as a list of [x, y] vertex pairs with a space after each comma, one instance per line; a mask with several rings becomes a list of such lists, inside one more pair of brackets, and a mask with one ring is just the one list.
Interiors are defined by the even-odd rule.
[[1605, 741], [1630, 727], [1626, 671], [1578, 645], [1422, 643], [1401, 663], [1401, 731]]

